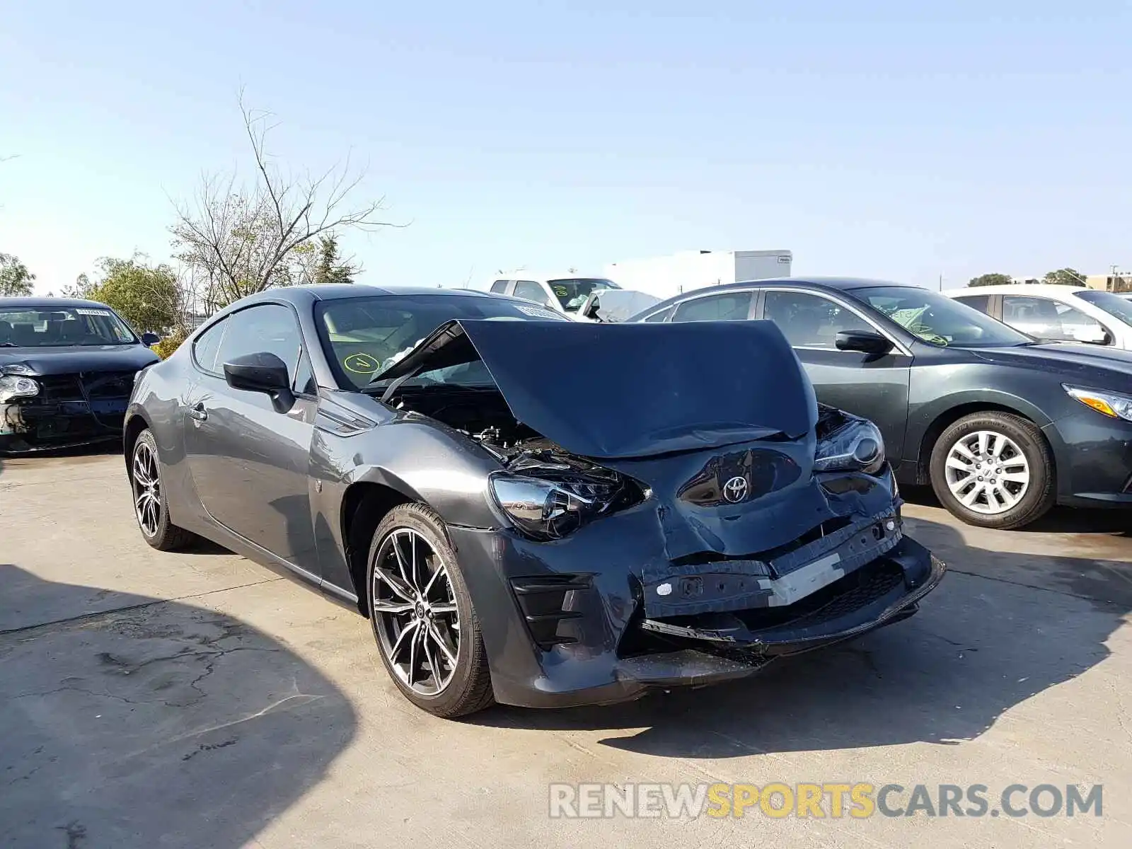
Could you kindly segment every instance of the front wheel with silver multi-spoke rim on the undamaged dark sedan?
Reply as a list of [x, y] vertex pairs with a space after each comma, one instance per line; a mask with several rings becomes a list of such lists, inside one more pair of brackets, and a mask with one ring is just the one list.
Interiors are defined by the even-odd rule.
[[1032, 422], [1010, 413], [974, 413], [944, 430], [931, 475], [943, 506], [980, 528], [1022, 528], [1057, 498], [1049, 446]]

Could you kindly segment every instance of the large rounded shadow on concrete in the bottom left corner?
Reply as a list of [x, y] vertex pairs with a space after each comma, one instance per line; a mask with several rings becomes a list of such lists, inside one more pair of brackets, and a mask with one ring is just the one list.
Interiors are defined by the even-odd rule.
[[[22, 606], [97, 592], [2, 564], [0, 586], [18, 588], [2, 603]], [[249, 843], [350, 744], [350, 702], [230, 616], [146, 597], [122, 604], [0, 633], [0, 842]]]

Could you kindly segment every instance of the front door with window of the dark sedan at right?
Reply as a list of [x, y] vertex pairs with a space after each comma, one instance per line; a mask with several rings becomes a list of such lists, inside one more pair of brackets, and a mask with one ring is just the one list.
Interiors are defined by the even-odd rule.
[[839, 351], [834, 341], [841, 331], [881, 331], [848, 305], [824, 294], [767, 289], [761, 317], [782, 331], [821, 403], [869, 419], [881, 429], [889, 457], [903, 456], [910, 355], [899, 346], [881, 355]]

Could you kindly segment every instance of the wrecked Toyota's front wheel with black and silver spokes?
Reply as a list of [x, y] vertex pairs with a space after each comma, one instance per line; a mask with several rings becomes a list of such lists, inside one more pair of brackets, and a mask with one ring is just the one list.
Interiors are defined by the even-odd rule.
[[440, 517], [423, 504], [394, 507], [368, 564], [370, 625], [397, 689], [436, 717], [491, 705], [479, 619]]

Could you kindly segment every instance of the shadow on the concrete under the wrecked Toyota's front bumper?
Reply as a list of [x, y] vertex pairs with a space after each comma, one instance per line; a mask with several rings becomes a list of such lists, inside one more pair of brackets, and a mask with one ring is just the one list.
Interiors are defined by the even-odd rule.
[[1132, 610], [1127, 557], [1012, 555], [968, 546], [953, 528], [919, 518], [909, 532], [952, 571], [907, 621], [730, 685], [610, 707], [499, 707], [472, 721], [625, 730], [602, 743], [676, 757], [955, 745], [1103, 661], [1105, 641]]

